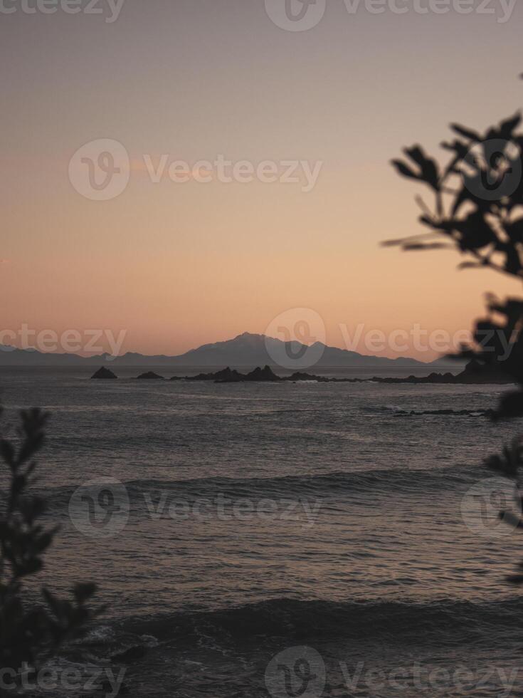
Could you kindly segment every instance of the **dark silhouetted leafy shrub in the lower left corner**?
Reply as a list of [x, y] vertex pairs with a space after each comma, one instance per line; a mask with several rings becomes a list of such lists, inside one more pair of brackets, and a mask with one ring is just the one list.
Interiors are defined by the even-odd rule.
[[28, 602], [23, 587], [24, 580], [43, 567], [56, 533], [56, 528], [39, 523], [45, 501], [28, 493], [35, 482], [33, 457], [42, 447], [47, 417], [37, 409], [23, 411], [19, 446], [0, 439], [9, 481], [9, 489], [0, 492], [0, 666], [16, 671], [23, 662], [35, 667], [45, 661], [94, 615], [86, 605], [95, 593], [93, 584], [76, 585], [72, 601], [42, 588], [41, 604]]

